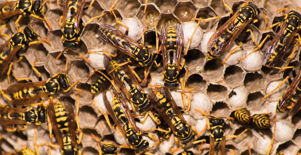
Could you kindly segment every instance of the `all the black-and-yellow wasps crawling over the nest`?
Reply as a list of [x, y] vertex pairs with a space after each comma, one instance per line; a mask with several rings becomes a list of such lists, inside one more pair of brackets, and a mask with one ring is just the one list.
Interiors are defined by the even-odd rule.
[[[207, 114], [205, 111], [194, 109], [194, 111], [204, 115], [206, 119], [206, 125], [200, 133], [197, 132], [199, 129], [195, 129], [196, 127], [189, 125], [182, 115], [182, 113], [190, 112], [191, 96], [194, 93], [194, 88], [188, 88], [186, 85], [188, 68], [185, 68], [184, 65], [184, 56], [188, 53], [191, 38], [199, 27], [199, 24], [215, 19], [221, 19], [221, 17], [216, 16], [207, 19], [191, 19], [197, 20], [198, 22], [192, 36], [188, 39], [186, 50], [183, 49], [184, 33], [180, 24], [176, 24], [176, 28], [174, 28], [172, 24], [163, 24], [160, 37], [158, 37], [155, 22], [156, 53], [153, 53], [149, 51], [149, 49], [152, 48], [151, 46], [144, 46], [144, 44], [140, 44], [128, 36], [129, 28], [118, 21], [113, 10], [113, 7], [117, 2], [118, 0], [111, 6], [110, 13], [115, 17], [117, 24], [126, 27], [126, 32], [123, 33], [121, 30], [108, 24], [101, 24], [98, 27], [97, 33], [101, 40], [117, 50], [113, 54], [105, 50], [88, 52], [90, 54], [101, 52], [104, 56], [103, 64], [105, 67], [105, 70], [95, 70], [95, 74], [88, 76], [93, 79], [91, 94], [102, 92], [102, 101], [97, 101], [101, 102], [102, 105], [96, 104], [95, 99], [92, 99], [91, 103], [103, 114], [107, 126], [111, 129], [116, 128], [116, 133], [124, 136], [126, 143], [122, 145], [105, 143], [99, 140], [97, 135], [91, 133], [89, 136], [97, 142], [99, 154], [119, 154], [117, 148], [120, 147], [130, 149], [135, 154], [150, 155], [152, 154], [151, 152], [154, 150], [154, 147], [161, 145], [162, 141], [170, 139], [172, 134], [174, 134], [175, 144], [173, 144], [172, 141], [169, 152], [166, 154], [174, 154], [174, 152], [179, 151], [182, 148], [189, 149], [189, 147], [193, 147], [191, 144], [200, 144], [197, 152], [184, 150], [178, 154], [192, 155], [200, 152], [209, 155], [235, 154], [234, 149], [230, 147], [227, 148], [226, 146], [227, 137], [237, 138], [249, 129], [254, 129], [262, 135], [269, 134], [269, 132], [264, 131], [270, 131], [269, 128], [272, 121], [274, 121], [274, 131], [271, 134], [273, 139], [277, 120], [275, 119], [275, 116], [271, 116], [272, 113], [261, 113], [251, 116], [247, 108], [242, 108], [231, 112], [229, 117], [216, 117]], [[226, 8], [231, 10], [224, 1], [222, 2]], [[7, 41], [0, 47], [0, 74], [7, 74], [7, 79], [4, 78], [3, 80], [8, 80], [9, 85], [8, 88], [3, 88], [3, 90], [0, 89], [2, 96], [5, 98], [3, 98], [3, 100], [7, 102], [7, 104], [1, 103], [0, 106], [0, 125], [5, 126], [7, 132], [12, 132], [25, 130], [26, 124], [34, 124], [34, 128], [36, 129], [36, 125], [48, 122], [49, 136], [50, 138], [53, 138], [52, 132], [54, 132], [58, 146], [51, 142], [36, 144], [35, 141], [33, 144], [35, 151], [23, 147], [22, 150], [15, 150], [12, 153], [3, 150], [2, 154], [39, 154], [38, 147], [44, 145], [49, 146], [49, 154], [51, 153], [51, 150], [60, 150], [61, 154], [65, 155], [81, 154], [78, 148], [83, 136], [78, 120], [79, 95], [77, 95], [78, 100], [77, 105], [75, 105], [76, 113], [74, 113], [74, 105], [71, 103], [72, 101], [70, 101], [70, 98], [55, 98], [55, 95], [60, 92], [60, 90], [69, 92], [73, 88], [78, 92], [82, 91], [75, 86], [78, 81], [71, 84], [70, 79], [67, 76], [69, 59], [66, 58], [64, 73], [61, 71], [46, 80], [42, 80], [42, 74], [35, 67], [35, 63], [37, 62], [37, 60], [35, 60], [32, 65], [32, 70], [38, 75], [39, 82], [33, 82], [29, 77], [18, 78], [16, 75], [11, 74], [11, 70], [14, 68], [13, 59], [15, 55], [17, 56], [17, 62], [20, 62], [22, 56], [20, 56], [19, 53], [26, 51], [30, 45], [38, 43], [47, 43], [48, 45], [51, 45], [50, 41], [42, 38], [33, 30], [30, 23], [25, 28], [18, 28], [20, 19], [24, 16], [29, 16], [45, 21], [48, 28], [51, 30], [52, 26], [44, 14], [43, 7], [46, 3], [46, 0], [43, 2], [40, 0], [19, 0], [5, 2], [0, 5], [0, 20], [2, 22], [0, 34], [2, 37], [8, 37]], [[89, 6], [85, 7], [85, 0], [63, 0], [62, 4], [59, 0], [57, 1], [57, 5], [61, 6], [63, 9], [59, 25], [63, 32], [61, 40], [65, 50], [61, 51], [56, 59], [59, 59], [64, 52], [73, 51], [79, 54], [86, 63], [91, 62], [84, 55], [79, 53], [76, 48], [80, 42], [80, 26], [86, 26], [94, 19], [106, 16], [106, 14], [103, 13], [91, 17], [90, 20], [83, 23], [83, 11], [89, 9], [93, 3], [94, 0], [92, 0]], [[14, 5], [14, 7], [12, 7], [12, 5]], [[144, 6], [145, 12], [148, 5], [145, 4]], [[288, 9], [284, 8], [279, 11], [285, 10]], [[231, 11], [230, 17], [226, 22], [221, 20], [221, 26], [208, 40], [206, 46], [208, 51], [206, 57], [207, 61], [219, 57], [225, 51], [229, 51], [228, 56], [222, 62], [222, 64], [225, 63], [231, 54], [243, 45], [243, 42], [238, 40], [237, 37], [240, 33], [246, 33], [244, 31], [250, 32], [253, 39], [254, 36], [252, 31], [250, 31], [250, 29], [246, 30], [246, 26], [256, 23], [256, 16], [258, 16], [260, 12], [261, 10], [256, 6], [255, 2], [247, 2], [243, 3], [240, 9], [234, 14]], [[15, 17], [17, 17], [15, 20], [17, 33], [12, 34], [11, 36], [1, 33], [2, 29], [4, 29]], [[288, 60], [286, 67], [277, 67], [277, 64], [282, 60], [292, 43], [296, 45], [294, 45], [296, 48], [294, 48], [292, 54], [290, 54], [289, 59], [296, 51], [297, 46], [301, 45], [301, 38], [298, 33], [301, 26], [300, 20], [301, 15], [297, 11], [290, 9], [288, 14], [284, 14], [282, 25], [281, 22], [279, 22], [261, 29], [271, 29], [278, 25], [277, 34], [263, 53], [262, 66], [279, 70], [292, 68], [294, 79], [291, 80], [289, 76], [284, 79], [284, 82], [286, 80], [289, 81], [290, 86], [280, 98], [277, 107], [275, 107], [276, 113], [289, 111], [290, 116], [295, 115], [301, 107], [299, 88], [301, 70], [296, 74], [294, 67], [288, 66], [290, 60]], [[262, 39], [260, 44], [257, 44], [253, 39], [253, 42], [257, 47], [246, 56], [237, 60], [237, 63], [247, 58], [253, 52], [259, 50], [269, 37], [270, 36], [267, 35]], [[42, 40], [37, 40], [38, 38], [41, 38]], [[231, 49], [234, 42], [237, 43], [237, 47]], [[157, 84], [157, 82], [160, 83], [161, 81], [153, 81], [155, 85], [151, 85], [149, 74], [153, 70], [157, 70], [161, 64], [163, 64], [162, 79], [164, 85]], [[144, 69], [143, 75], [135, 72], [133, 67], [137, 66]], [[183, 68], [186, 70], [184, 76], [181, 75], [181, 70]], [[11, 78], [16, 79], [17, 84], [11, 84]], [[277, 88], [280, 86], [281, 85]], [[148, 87], [147, 93], [144, 91], [145, 88], [143, 87]], [[170, 92], [171, 90], [181, 92], [183, 107], [179, 107], [175, 103], [174, 97]], [[262, 99], [268, 97], [272, 92], [268, 93]], [[109, 93], [113, 94], [112, 101], [109, 101], [107, 97], [107, 94]], [[43, 100], [47, 97], [48, 100], [44, 102]], [[187, 98], [189, 99], [186, 109], [185, 100]], [[64, 101], [64, 106], [61, 104], [61, 100]], [[45, 103], [47, 103], [47, 105], [45, 105]], [[33, 109], [35, 106], [37, 107], [36, 110]], [[105, 109], [102, 110], [101, 106], [104, 106]], [[144, 119], [138, 119], [140, 116], [144, 117]], [[148, 116], [156, 123], [156, 128], [139, 129], [136, 126], [136, 122], [145, 123]], [[207, 117], [210, 118], [207, 119]], [[236, 120], [246, 129], [239, 135], [226, 135], [223, 128], [225, 124], [224, 119]], [[112, 122], [113, 125], [111, 124]], [[20, 125], [20, 127], [17, 128], [17, 125]], [[13, 128], [11, 128], [11, 126], [13, 126]], [[209, 135], [201, 136], [206, 128], [209, 130]], [[151, 130], [155, 130], [157, 135], [154, 136], [146, 132]], [[78, 138], [76, 137], [76, 131], [79, 132]], [[4, 137], [4, 135], [2, 136]], [[149, 140], [145, 137], [148, 137]], [[36, 138], [35, 135], [35, 139]], [[4, 141], [4, 139], [2, 141]], [[154, 144], [150, 145], [151, 141], [153, 141]], [[180, 143], [183, 145], [181, 146]], [[208, 143], [209, 149], [202, 149], [203, 143]], [[174, 146], [176, 146], [176, 148], [174, 148]], [[272, 147], [273, 141], [268, 148], [267, 154], [270, 153]], [[249, 154], [251, 153], [252, 151], [249, 148]], [[278, 154], [283, 154], [283, 152]]]

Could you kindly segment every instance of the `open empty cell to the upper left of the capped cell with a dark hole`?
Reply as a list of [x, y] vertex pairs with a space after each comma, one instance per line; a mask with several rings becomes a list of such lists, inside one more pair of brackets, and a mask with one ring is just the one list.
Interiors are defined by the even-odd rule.
[[210, 84], [207, 88], [207, 95], [213, 102], [224, 101], [228, 90], [225, 86]]

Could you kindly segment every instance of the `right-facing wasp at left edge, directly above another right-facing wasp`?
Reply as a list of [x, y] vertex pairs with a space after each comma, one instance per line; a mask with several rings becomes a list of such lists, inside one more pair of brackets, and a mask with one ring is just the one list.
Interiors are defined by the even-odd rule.
[[[36, 62], [36, 61], [35, 61]], [[68, 58], [66, 60], [65, 73], [57, 73], [54, 74], [51, 78], [48, 78], [44, 81], [39, 82], [28, 82], [28, 83], [18, 83], [15, 85], [9, 86], [5, 93], [12, 94], [14, 99], [11, 99], [7, 95], [4, 94], [2, 90], [1, 93], [8, 100], [10, 100], [13, 105], [25, 105], [29, 104], [33, 101], [36, 101], [42, 97], [52, 95], [59, 90], [63, 92], [69, 91], [71, 88], [74, 88], [73, 85], [77, 83], [70, 84], [69, 78], [67, 77], [67, 67], [68, 67]], [[41, 73], [36, 70], [33, 64], [33, 70], [35, 70], [39, 74], [39, 79], [41, 78]], [[80, 89], [74, 88], [76, 90], [81, 91]]]

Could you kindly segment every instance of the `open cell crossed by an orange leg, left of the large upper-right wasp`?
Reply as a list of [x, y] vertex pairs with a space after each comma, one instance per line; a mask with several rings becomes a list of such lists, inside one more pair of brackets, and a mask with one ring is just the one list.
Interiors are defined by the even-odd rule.
[[[211, 18], [211, 17], [217, 17], [217, 14], [210, 7], [200, 8], [197, 12], [197, 18], [207, 19], [207, 18]], [[213, 28], [215, 29], [218, 22], [219, 22], [219, 19], [210, 20], [206, 23], [201, 23], [200, 27], [203, 30], [208, 30], [208, 29], [213, 29]]]

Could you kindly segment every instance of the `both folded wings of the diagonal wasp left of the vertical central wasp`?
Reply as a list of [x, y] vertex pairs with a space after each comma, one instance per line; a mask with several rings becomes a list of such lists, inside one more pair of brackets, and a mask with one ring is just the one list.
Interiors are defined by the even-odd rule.
[[124, 40], [124, 42], [116, 41], [115, 39], [112, 39], [111, 37], [108, 37], [107, 34], [100, 32], [101, 30], [98, 31], [99, 36], [101, 39], [104, 40], [106, 43], [110, 43], [112, 46], [117, 48], [119, 51], [129, 55], [132, 58], [136, 58], [134, 54], [131, 53], [129, 46], [134, 45], [137, 46], [138, 48], [145, 48], [144, 46], [138, 44], [135, 40], [130, 38], [129, 36], [125, 35], [123, 32], [119, 31], [119, 29], [116, 29], [115, 27], [107, 24], [102, 24], [99, 26], [100, 29], [104, 29], [107, 32], [115, 35], [115, 36], [120, 36], [121, 39]]

